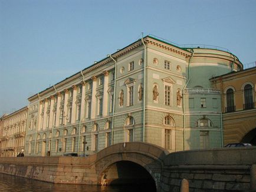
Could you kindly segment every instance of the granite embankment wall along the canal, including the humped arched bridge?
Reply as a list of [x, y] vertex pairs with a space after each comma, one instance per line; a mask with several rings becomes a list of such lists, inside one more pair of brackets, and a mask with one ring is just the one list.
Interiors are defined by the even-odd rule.
[[133, 142], [112, 145], [87, 158], [1, 157], [0, 173], [52, 183], [103, 184], [105, 170], [120, 161], [144, 167], [161, 192], [179, 191], [183, 178], [190, 192], [256, 191], [256, 147], [168, 154], [155, 145]]

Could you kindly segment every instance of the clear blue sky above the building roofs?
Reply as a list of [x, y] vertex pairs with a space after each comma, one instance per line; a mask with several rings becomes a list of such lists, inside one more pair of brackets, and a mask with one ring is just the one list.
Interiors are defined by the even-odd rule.
[[256, 61], [256, 1], [0, 0], [0, 115], [153, 34]]

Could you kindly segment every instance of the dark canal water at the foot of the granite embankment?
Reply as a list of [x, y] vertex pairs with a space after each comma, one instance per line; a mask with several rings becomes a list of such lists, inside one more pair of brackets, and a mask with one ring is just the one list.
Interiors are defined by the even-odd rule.
[[53, 184], [43, 181], [31, 180], [28, 178], [9, 176], [0, 173], [0, 191], [26, 191], [26, 192], [47, 192], [47, 191], [86, 191], [86, 192], [130, 192], [150, 191], [146, 186], [89, 186], [80, 184]]

